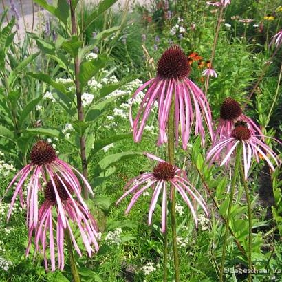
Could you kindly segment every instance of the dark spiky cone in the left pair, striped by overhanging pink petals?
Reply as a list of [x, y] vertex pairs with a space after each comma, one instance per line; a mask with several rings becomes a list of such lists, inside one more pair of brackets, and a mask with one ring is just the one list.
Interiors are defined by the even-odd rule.
[[[73, 193], [72, 187], [66, 182], [63, 181], [65, 186], [67, 187], [67, 190], [69, 193]], [[54, 176], [54, 183], [56, 185], [56, 189], [58, 191], [58, 195], [61, 199], [61, 201], [65, 201], [66, 199], [69, 199], [69, 195], [67, 194], [67, 191], [65, 191], [65, 187], [63, 186], [61, 180], [59, 180], [58, 176]], [[51, 180], [47, 182], [47, 185], [44, 190], [44, 197], [46, 201], [52, 201], [56, 202], [56, 193], [54, 190], [54, 185]]]

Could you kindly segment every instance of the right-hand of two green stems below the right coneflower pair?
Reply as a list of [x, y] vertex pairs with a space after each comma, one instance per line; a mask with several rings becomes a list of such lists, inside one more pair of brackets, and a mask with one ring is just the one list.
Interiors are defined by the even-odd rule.
[[[241, 180], [243, 182], [243, 188], [246, 194], [247, 206], [248, 206], [248, 221], [249, 221], [249, 235], [248, 235], [248, 268], [249, 270], [252, 269], [252, 206], [250, 202], [250, 193], [248, 191], [248, 184], [245, 179], [245, 175], [243, 173], [243, 164], [240, 162], [240, 173], [241, 173]], [[252, 281], [252, 273], [249, 272], [248, 274], [248, 281]]]

